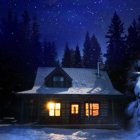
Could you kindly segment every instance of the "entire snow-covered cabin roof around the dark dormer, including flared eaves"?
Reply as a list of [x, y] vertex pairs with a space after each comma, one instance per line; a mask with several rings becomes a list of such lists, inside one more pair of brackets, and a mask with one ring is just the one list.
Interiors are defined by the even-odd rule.
[[62, 68], [72, 79], [70, 88], [49, 88], [44, 85], [45, 78], [55, 68], [38, 68], [33, 89], [20, 93], [40, 93], [40, 94], [105, 94], [120, 95], [116, 91], [105, 71], [100, 71], [97, 75], [96, 69], [87, 68]]

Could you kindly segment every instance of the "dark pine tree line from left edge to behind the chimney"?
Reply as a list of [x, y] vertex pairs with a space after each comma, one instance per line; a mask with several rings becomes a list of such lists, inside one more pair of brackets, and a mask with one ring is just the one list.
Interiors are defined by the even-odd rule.
[[12, 10], [0, 22], [0, 89], [20, 91], [32, 88], [38, 67], [95, 68], [101, 60], [101, 48], [93, 35], [86, 34], [83, 56], [77, 44], [75, 49], [66, 43], [61, 61], [57, 58], [55, 42], [40, 41], [37, 17], [27, 11], [18, 17]]

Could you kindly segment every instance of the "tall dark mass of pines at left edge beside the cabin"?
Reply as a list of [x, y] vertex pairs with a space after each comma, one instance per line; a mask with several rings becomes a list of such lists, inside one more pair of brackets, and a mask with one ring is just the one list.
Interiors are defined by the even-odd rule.
[[[0, 87], [15, 91], [31, 88], [40, 63], [37, 18], [25, 11], [20, 19], [9, 10], [0, 23]], [[26, 78], [28, 77], [28, 80]]]

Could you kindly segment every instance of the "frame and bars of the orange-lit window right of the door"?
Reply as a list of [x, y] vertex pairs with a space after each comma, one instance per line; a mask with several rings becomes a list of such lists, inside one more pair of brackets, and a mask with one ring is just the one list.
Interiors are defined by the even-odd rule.
[[[88, 104], [88, 109], [86, 109], [86, 104]], [[99, 109], [90, 108], [90, 104], [92, 104], [92, 107], [93, 107], [93, 104], [98, 104]], [[90, 114], [90, 111], [92, 112], [92, 115]], [[98, 115], [94, 115], [93, 111], [98, 111]], [[88, 112], [88, 115], [87, 115], [87, 112]], [[85, 114], [85, 117], [92, 117], [92, 118], [99, 117], [100, 116], [100, 102], [85, 102], [84, 114]]]

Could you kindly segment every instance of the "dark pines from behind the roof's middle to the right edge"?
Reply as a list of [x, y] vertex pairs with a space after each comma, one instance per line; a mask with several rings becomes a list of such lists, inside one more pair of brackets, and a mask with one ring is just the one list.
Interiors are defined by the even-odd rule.
[[97, 62], [103, 63], [104, 56], [105, 70], [108, 72], [113, 86], [123, 93], [127, 91], [133, 93], [134, 85], [128, 85], [128, 81], [132, 66], [140, 59], [140, 16], [134, 19], [125, 31], [124, 23], [115, 12], [105, 37], [107, 52], [104, 55], [102, 55], [96, 36], [93, 34], [90, 37], [88, 32], [83, 43], [82, 55], [81, 47], [78, 44], [73, 49], [66, 43], [62, 63], [59, 65], [62, 67], [97, 68]]

